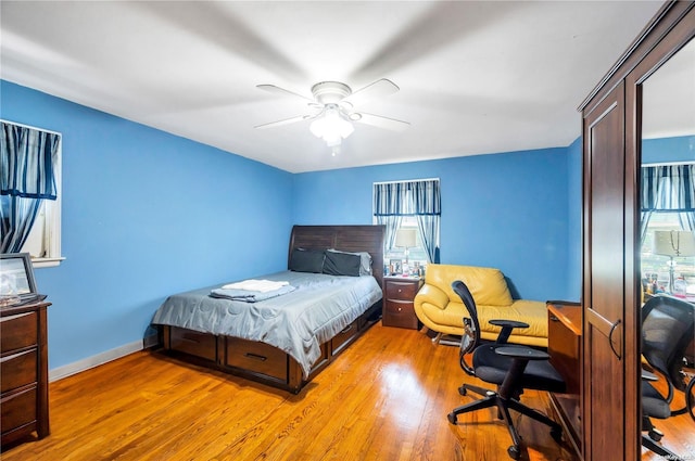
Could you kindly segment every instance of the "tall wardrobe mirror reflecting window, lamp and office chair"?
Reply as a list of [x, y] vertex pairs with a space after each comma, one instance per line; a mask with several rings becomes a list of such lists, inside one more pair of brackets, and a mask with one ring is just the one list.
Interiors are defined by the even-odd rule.
[[[657, 381], [648, 381], [646, 387], [656, 389], [668, 405], [665, 414], [653, 415], [659, 398], [649, 400], [643, 382], [643, 415], [649, 418], [643, 419], [642, 424], [642, 460], [695, 459], [695, 410], [688, 408], [695, 405], [695, 386], [686, 387], [695, 376], [693, 326], [685, 330], [682, 341], [678, 340], [677, 331], [659, 330], [657, 333], [656, 328], [653, 329], [655, 324], [662, 328], [671, 320], [682, 324], [682, 319], [673, 320], [669, 313], [679, 309], [685, 311], [683, 318], [687, 320], [690, 316], [692, 322], [695, 309], [695, 40], [649, 76], [642, 91], [639, 251], [644, 303], [643, 368], [657, 376]], [[659, 295], [675, 298], [673, 306], [660, 306], [653, 299]], [[646, 313], [654, 306], [658, 306], [658, 321], [648, 323]], [[678, 369], [675, 373], [659, 373], [652, 360], [646, 361], [654, 344], [678, 349], [675, 364], [670, 364]], [[692, 402], [687, 401], [688, 394]], [[671, 414], [668, 414], [669, 409]], [[675, 414], [681, 409], [682, 412]], [[664, 449], [667, 451], [659, 451]], [[673, 453], [680, 458], [671, 458]]]

